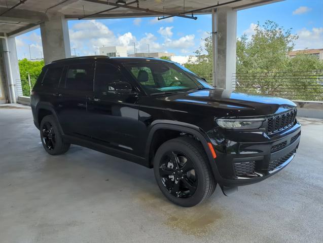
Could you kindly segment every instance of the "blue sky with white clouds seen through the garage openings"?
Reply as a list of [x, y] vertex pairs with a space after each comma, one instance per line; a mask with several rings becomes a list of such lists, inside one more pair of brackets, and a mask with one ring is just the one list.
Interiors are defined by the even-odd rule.
[[[180, 17], [69, 20], [71, 53], [94, 55], [104, 46], [127, 46], [128, 53], [171, 52], [175, 55], [192, 55], [211, 32], [211, 16], [197, 15], [197, 20]], [[285, 29], [298, 34], [294, 49], [323, 48], [323, 0], [286, 0], [237, 13], [237, 38], [254, 33], [255, 25], [272, 20]], [[40, 29], [16, 37], [18, 58], [42, 57]], [[74, 51], [75, 48], [75, 51]]]

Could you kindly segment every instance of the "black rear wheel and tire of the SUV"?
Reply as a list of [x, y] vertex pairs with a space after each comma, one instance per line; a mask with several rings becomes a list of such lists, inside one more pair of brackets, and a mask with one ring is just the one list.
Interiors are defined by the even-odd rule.
[[62, 134], [53, 115], [43, 118], [40, 125], [40, 133], [43, 147], [50, 155], [64, 154], [68, 151], [70, 144], [63, 141]]

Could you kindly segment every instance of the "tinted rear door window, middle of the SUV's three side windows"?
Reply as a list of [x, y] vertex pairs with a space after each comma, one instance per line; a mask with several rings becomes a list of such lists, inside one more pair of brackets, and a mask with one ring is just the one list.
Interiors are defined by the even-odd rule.
[[80, 63], [69, 65], [66, 75], [66, 89], [93, 91], [94, 65]]

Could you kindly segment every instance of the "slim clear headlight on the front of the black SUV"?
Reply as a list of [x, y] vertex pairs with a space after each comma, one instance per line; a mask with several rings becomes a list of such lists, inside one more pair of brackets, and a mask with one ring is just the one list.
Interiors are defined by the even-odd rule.
[[220, 127], [225, 129], [249, 130], [260, 128], [265, 119], [217, 119], [216, 121]]

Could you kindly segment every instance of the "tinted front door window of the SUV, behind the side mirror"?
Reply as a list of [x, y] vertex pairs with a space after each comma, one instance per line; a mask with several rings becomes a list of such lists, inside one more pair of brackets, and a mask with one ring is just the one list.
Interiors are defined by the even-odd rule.
[[124, 86], [127, 79], [117, 66], [109, 63], [97, 63], [95, 68], [95, 91], [114, 91], [116, 87]]

